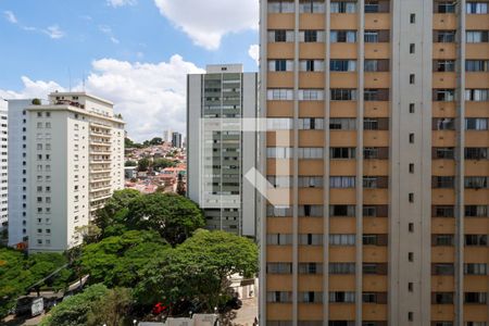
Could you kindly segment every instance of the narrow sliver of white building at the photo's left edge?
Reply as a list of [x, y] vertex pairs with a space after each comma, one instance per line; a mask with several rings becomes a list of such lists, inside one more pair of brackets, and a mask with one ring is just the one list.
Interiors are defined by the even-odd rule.
[[7, 226], [9, 211], [9, 136], [7, 101], [0, 99], [0, 229]]

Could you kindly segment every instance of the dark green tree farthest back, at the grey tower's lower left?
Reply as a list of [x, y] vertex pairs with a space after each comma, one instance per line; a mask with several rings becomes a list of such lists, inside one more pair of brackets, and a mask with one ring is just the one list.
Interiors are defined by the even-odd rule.
[[155, 230], [172, 246], [184, 242], [205, 224], [202, 211], [191, 200], [161, 192], [133, 200], [127, 218], [129, 228]]

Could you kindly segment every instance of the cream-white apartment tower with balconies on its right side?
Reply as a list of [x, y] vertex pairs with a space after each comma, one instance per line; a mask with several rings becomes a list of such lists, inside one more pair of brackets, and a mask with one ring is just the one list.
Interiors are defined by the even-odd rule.
[[124, 188], [124, 122], [111, 102], [85, 92], [23, 104], [23, 240], [30, 252], [64, 251], [83, 241], [95, 211]]

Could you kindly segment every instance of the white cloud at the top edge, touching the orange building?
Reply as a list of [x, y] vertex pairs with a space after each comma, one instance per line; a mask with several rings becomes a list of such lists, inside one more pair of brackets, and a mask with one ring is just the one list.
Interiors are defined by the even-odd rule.
[[196, 45], [217, 50], [223, 36], [259, 27], [259, 0], [154, 0]]

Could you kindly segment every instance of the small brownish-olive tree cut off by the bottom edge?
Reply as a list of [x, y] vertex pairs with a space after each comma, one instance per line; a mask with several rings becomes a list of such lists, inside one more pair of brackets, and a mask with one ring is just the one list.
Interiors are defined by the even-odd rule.
[[88, 325], [124, 325], [133, 304], [133, 292], [126, 288], [109, 290], [98, 304], [88, 312]]

